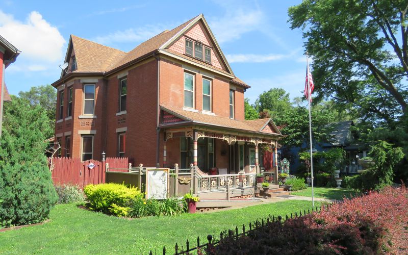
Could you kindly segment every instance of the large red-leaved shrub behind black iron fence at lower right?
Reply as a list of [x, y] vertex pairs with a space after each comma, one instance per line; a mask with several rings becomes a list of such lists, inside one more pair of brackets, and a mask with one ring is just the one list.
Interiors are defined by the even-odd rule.
[[269, 222], [238, 239], [227, 237], [207, 254], [407, 254], [408, 190], [345, 199], [319, 213]]

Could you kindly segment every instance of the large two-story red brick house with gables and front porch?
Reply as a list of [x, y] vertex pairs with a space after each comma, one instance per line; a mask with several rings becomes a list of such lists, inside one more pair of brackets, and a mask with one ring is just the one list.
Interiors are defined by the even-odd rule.
[[244, 120], [244, 92], [203, 15], [128, 53], [71, 35], [58, 89], [62, 156], [128, 157], [144, 166], [228, 172], [258, 166], [282, 135], [271, 119]]

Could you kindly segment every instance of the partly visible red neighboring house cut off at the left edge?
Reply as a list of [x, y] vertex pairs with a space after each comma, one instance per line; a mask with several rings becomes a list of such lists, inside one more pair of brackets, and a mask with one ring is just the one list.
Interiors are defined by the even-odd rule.
[[11, 97], [4, 82], [5, 69], [13, 63], [20, 54], [19, 50], [10, 42], [0, 36], [0, 137], [2, 136], [3, 104], [4, 101], [11, 101]]

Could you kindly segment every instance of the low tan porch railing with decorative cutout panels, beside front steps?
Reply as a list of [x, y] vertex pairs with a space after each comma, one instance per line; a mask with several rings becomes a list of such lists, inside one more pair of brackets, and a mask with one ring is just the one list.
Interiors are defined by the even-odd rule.
[[197, 179], [198, 192], [211, 191], [220, 187], [243, 188], [256, 185], [254, 173], [200, 175]]

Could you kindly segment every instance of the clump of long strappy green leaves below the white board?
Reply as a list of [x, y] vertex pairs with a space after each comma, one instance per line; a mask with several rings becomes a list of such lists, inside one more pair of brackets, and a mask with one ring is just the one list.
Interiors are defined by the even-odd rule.
[[164, 200], [144, 199], [137, 197], [130, 203], [129, 216], [140, 218], [145, 216], [175, 216], [186, 212], [185, 199], [170, 197]]

